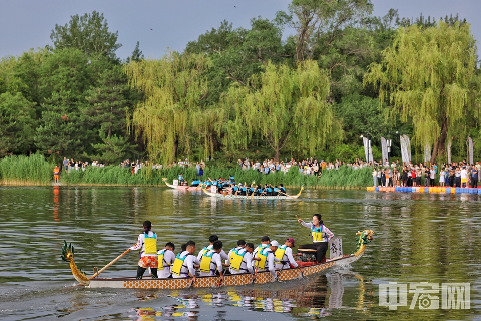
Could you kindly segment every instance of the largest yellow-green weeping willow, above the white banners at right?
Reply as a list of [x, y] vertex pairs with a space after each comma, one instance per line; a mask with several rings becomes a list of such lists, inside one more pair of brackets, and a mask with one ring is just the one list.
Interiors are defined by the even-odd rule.
[[[400, 27], [381, 63], [372, 63], [364, 85], [374, 84], [380, 104], [388, 101], [391, 116], [412, 121], [416, 146], [434, 144], [431, 162], [444, 153], [446, 138], [459, 131], [463, 117], [478, 112], [470, 91], [476, 64], [469, 24], [439, 21], [434, 27]], [[462, 130], [461, 130], [462, 131]]]

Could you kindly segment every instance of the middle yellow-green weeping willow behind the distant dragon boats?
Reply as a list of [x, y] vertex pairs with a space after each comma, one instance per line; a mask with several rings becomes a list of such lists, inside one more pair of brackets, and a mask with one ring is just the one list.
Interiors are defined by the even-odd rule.
[[233, 107], [233, 120], [224, 126], [227, 145], [247, 144], [253, 134], [260, 135], [276, 161], [289, 141], [311, 154], [323, 147], [333, 118], [326, 70], [314, 61], [294, 69], [268, 63], [250, 83], [250, 88], [232, 87], [227, 94], [225, 101]]

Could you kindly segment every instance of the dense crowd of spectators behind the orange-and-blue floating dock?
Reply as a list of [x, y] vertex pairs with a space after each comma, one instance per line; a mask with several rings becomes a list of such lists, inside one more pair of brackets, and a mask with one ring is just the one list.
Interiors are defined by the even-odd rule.
[[385, 159], [379, 162], [372, 172], [374, 187], [416, 187], [431, 186], [439, 183], [440, 187], [471, 187], [477, 188], [481, 171], [481, 163], [469, 164], [466, 159], [462, 162], [442, 163], [402, 163]]

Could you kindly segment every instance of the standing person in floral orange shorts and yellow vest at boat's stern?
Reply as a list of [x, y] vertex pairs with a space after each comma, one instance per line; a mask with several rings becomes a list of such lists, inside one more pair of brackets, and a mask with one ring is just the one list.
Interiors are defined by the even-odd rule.
[[141, 279], [144, 275], [147, 267], [150, 267], [150, 272], [152, 273], [152, 278], [156, 279], [157, 267], [159, 266], [159, 260], [157, 257], [157, 234], [152, 232], [152, 223], [150, 221], [145, 221], [142, 224], [144, 229], [143, 233], [139, 234], [137, 239], [137, 244], [129, 247], [131, 251], [142, 249], [139, 260], [139, 267], [137, 268], [137, 279]]

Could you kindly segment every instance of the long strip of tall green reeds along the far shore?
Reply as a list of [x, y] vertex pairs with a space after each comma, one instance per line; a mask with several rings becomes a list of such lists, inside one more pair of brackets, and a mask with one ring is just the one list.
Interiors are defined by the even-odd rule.
[[[0, 160], [0, 185], [2, 186], [51, 186], [55, 164], [48, 163], [44, 156], [36, 153], [30, 156], [7, 156]], [[187, 182], [197, 178], [195, 168], [174, 167], [162, 170], [152, 170], [144, 167], [138, 174], [132, 174], [130, 169], [119, 166], [103, 168], [88, 167], [85, 171], [62, 171], [60, 183], [65, 186], [139, 186], [162, 187], [162, 178], [170, 183], [182, 173]], [[253, 170], [239, 168], [219, 168], [207, 164], [202, 178], [212, 180], [219, 177], [234, 176], [237, 183], [284, 184], [286, 188], [306, 189], [361, 189], [372, 185], [372, 169], [353, 170], [347, 166], [339, 170], [324, 170], [321, 178], [307, 176], [297, 170], [261, 174]]]

